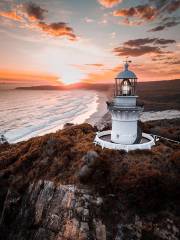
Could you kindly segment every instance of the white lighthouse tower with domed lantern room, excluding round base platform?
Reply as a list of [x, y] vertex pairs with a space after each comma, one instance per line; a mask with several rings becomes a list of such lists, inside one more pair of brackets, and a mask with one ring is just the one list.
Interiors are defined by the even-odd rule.
[[126, 61], [124, 71], [115, 78], [114, 99], [107, 103], [112, 116], [111, 141], [121, 144], [134, 144], [141, 140], [138, 120], [143, 107], [137, 106], [137, 77], [128, 67]]

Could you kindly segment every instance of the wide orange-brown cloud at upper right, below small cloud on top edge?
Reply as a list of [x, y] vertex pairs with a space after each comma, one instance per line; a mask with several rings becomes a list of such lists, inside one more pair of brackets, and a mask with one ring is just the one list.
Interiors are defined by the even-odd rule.
[[116, 17], [136, 17], [143, 20], [153, 20], [157, 14], [157, 9], [148, 4], [136, 7], [122, 8], [113, 12]]

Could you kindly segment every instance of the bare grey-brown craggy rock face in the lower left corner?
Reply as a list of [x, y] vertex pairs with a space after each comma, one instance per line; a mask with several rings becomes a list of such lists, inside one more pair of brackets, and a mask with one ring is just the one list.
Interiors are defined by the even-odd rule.
[[1, 216], [1, 239], [106, 239], [100, 218], [103, 200], [89, 189], [31, 184], [23, 194], [8, 192]]

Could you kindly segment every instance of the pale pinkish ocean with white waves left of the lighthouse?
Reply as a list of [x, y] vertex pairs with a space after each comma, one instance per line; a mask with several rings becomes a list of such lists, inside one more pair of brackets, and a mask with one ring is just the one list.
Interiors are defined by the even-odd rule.
[[96, 91], [0, 91], [0, 134], [10, 143], [83, 123], [98, 107]]

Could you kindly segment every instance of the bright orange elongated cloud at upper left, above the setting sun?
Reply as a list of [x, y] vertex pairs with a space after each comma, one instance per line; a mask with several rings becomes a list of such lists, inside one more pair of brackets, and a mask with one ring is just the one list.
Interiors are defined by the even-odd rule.
[[73, 29], [64, 22], [50, 23], [39, 22], [37, 24], [43, 32], [55, 36], [55, 37], [67, 37], [69, 40], [77, 40], [77, 36], [74, 34]]

